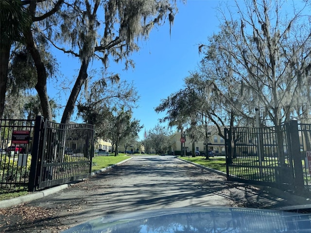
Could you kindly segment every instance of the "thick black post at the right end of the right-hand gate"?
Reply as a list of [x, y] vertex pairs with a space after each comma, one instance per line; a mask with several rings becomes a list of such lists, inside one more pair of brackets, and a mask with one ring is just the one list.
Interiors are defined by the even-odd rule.
[[304, 177], [302, 162], [300, 156], [300, 141], [298, 133], [298, 122], [297, 120], [291, 120], [289, 124], [289, 132], [291, 138], [291, 154], [294, 160], [294, 183], [296, 189], [302, 191], [304, 189]]

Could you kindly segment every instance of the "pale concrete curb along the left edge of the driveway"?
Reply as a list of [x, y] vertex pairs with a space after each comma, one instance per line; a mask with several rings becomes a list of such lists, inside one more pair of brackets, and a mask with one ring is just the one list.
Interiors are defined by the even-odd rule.
[[[91, 173], [91, 177], [92, 176], [95, 176], [96, 174], [100, 173], [100, 172], [104, 172], [106, 170], [109, 170], [111, 169], [112, 167], [114, 166], [118, 166], [122, 163], [125, 163], [126, 161], [132, 159], [133, 157], [131, 158], [128, 158], [126, 160], [123, 160], [117, 164], [114, 164], [112, 166], [107, 166], [103, 169], [100, 169], [98, 171], [95, 171], [95, 172], [92, 172]], [[84, 181], [84, 180], [82, 180]], [[48, 188], [48, 189], [45, 189], [43, 191], [38, 191], [38, 192], [35, 192], [35, 193], [31, 193], [31, 194], [28, 194], [28, 195], [25, 195], [25, 196], [21, 196], [21, 197], [17, 197], [17, 198], [12, 198], [12, 199], [9, 199], [9, 200], [1, 200], [0, 201], [0, 208], [7, 208], [7, 207], [11, 207], [11, 206], [15, 206], [15, 205], [18, 205], [18, 204], [21, 204], [21, 203], [24, 203], [24, 202], [29, 202], [29, 201], [32, 201], [32, 200], [38, 200], [38, 199], [41, 199], [41, 198], [44, 198], [44, 197], [47, 197], [51, 194], [54, 194], [54, 193], [57, 193], [65, 188], [68, 188], [72, 185], [74, 185], [75, 183], [79, 183], [79, 182], [72, 182], [72, 183], [66, 183], [66, 184], [62, 184], [62, 185], [59, 185], [59, 186], [55, 186], [55, 187], [52, 187], [52, 188]]]

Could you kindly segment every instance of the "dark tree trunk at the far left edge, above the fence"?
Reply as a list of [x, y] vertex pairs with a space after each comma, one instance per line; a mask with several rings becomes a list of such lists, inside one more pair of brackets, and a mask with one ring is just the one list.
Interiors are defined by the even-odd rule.
[[11, 41], [1, 41], [0, 47], [0, 119], [3, 117]]

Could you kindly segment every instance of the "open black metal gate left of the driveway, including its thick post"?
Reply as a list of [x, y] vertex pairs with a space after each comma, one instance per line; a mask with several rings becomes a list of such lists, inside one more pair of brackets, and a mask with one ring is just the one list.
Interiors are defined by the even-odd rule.
[[87, 178], [94, 156], [94, 126], [36, 118], [29, 191]]

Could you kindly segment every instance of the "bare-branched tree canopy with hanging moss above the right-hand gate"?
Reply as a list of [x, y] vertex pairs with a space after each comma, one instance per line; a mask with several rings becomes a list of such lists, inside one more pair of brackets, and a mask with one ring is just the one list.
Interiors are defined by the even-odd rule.
[[[283, 8], [284, 7], [284, 8]], [[265, 124], [298, 116], [310, 101], [311, 28], [306, 5], [286, 12], [282, 1], [236, 1], [208, 39], [201, 66], [225, 102], [244, 116], [259, 108]], [[231, 16], [231, 17], [230, 17]]]

